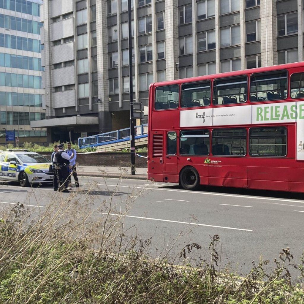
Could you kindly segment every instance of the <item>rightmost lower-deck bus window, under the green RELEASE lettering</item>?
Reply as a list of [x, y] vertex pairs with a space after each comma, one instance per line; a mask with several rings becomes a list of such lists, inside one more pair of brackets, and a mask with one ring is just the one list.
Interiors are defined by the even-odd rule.
[[286, 137], [285, 127], [251, 128], [249, 154], [251, 156], [285, 156]]

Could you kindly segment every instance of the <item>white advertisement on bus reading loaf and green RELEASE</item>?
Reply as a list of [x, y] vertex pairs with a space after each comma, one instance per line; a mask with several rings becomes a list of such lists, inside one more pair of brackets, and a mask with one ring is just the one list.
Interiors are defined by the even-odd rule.
[[296, 122], [296, 159], [304, 160], [304, 101], [180, 111], [181, 128], [291, 122]]

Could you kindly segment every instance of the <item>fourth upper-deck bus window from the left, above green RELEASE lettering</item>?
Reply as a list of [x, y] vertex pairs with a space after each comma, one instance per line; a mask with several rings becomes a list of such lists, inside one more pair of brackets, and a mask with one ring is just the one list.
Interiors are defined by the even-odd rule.
[[278, 100], [287, 96], [287, 71], [252, 74], [250, 101]]

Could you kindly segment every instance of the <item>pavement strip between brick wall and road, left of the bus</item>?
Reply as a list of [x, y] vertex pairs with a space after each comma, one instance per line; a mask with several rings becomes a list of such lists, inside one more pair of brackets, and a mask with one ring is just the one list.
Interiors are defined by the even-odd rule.
[[131, 168], [127, 167], [97, 167], [97, 166], [78, 166], [77, 175], [91, 177], [112, 177], [147, 180], [147, 168], [136, 168], [135, 175], [131, 174]]

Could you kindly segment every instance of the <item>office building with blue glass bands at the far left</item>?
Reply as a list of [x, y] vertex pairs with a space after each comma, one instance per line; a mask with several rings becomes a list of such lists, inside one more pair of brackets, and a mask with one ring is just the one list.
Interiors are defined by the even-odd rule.
[[0, 128], [15, 130], [19, 141], [46, 142], [42, 109], [40, 5], [42, 1], [0, 0]]

